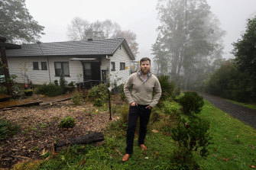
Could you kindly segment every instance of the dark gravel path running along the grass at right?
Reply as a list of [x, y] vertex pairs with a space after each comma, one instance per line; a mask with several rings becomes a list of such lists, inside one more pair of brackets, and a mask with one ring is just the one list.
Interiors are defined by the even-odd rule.
[[229, 101], [225, 101], [223, 98], [215, 97], [212, 95], [200, 95], [202, 95], [203, 98], [205, 98], [215, 107], [218, 107], [222, 111], [230, 114], [232, 117], [235, 117], [256, 129], [256, 110], [238, 104], [233, 104]]

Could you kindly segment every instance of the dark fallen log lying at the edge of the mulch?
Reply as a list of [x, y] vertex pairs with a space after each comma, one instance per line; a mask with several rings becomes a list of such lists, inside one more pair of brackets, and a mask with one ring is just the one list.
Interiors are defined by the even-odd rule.
[[61, 146], [70, 146], [75, 144], [89, 144], [89, 143], [98, 143], [104, 140], [103, 133], [89, 133], [87, 135], [71, 138], [68, 140], [58, 141], [54, 143], [54, 151], [57, 151], [57, 148]]

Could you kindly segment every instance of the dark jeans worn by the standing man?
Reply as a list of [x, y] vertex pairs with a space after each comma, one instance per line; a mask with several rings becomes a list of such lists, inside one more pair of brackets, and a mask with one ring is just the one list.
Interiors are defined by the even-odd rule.
[[140, 117], [140, 132], [138, 136], [138, 144], [144, 144], [145, 136], [147, 133], [147, 123], [151, 116], [151, 109], [145, 108], [146, 106], [130, 106], [128, 114], [128, 128], [126, 136], [125, 153], [131, 154], [133, 152], [134, 133], [138, 117]]

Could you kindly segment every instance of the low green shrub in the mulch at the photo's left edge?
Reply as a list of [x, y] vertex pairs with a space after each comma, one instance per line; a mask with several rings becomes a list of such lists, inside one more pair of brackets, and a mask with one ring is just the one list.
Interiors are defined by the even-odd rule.
[[8, 136], [14, 136], [20, 130], [20, 126], [11, 123], [9, 120], [0, 119], [0, 140], [5, 140]]

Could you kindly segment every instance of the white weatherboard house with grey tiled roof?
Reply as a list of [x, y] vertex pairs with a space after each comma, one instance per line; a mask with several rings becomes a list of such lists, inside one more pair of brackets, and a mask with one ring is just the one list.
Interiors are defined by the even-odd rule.
[[68, 83], [105, 81], [110, 73], [120, 84], [128, 79], [134, 60], [124, 38], [25, 44], [6, 50], [6, 56], [10, 75], [18, 76], [15, 81], [29, 79], [35, 85], [59, 81], [61, 72]]

